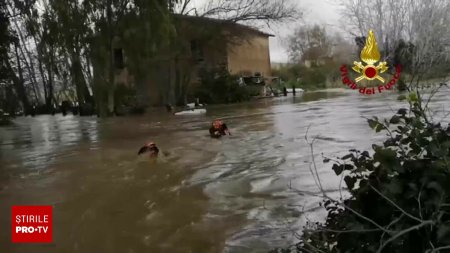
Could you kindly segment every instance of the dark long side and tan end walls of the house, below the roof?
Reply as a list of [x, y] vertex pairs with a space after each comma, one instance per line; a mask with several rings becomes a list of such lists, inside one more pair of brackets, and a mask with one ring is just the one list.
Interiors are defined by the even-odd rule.
[[[158, 59], [155, 59], [153, 64], [146, 66], [149, 80], [135, 80], [127, 70], [128, 59], [124, 53], [125, 68], [116, 73], [115, 83], [134, 85], [137, 88], [138, 100], [142, 104], [161, 105], [179, 100], [179, 94], [184, 89], [180, 86], [180, 76], [190, 77], [188, 78], [190, 83], [188, 90], [198, 85], [200, 81], [198, 74], [203, 68], [208, 69], [224, 64], [232, 74], [260, 72], [263, 76], [271, 76], [269, 38], [267, 36], [250, 34], [249, 39], [243, 43], [227, 47], [226, 41], [218, 36], [217, 39], [211, 39], [214, 37], [210, 35], [211, 30], [200, 25], [192, 26], [187, 23], [179, 31], [180, 37], [183, 39], [180, 41], [178, 53], [160, 52]], [[199, 61], [197, 55], [191, 52], [193, 40], [201, 41], [202, 61]]]

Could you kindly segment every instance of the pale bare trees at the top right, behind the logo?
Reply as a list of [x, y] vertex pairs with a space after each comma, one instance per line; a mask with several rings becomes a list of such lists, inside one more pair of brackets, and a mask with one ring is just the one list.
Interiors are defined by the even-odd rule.
[[[420, 89], [448, 81], [450, 62], [450, 2], [443, 0], [342, 0], [347, 29], [364, 35], [375, 31], [385, 60], [403, 65], [402, 79], [415, 92], [427, 121], [437, 89], [422, 97]], [[358, 34], [354, 34], [358, 36]], [[441, 80], [436, 80], [440, 78]]]

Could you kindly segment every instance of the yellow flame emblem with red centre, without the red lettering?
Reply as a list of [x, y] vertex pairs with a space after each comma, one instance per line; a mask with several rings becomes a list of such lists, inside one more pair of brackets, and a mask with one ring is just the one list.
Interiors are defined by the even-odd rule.
[[366, 39], [366, 44], [361, 50], [361, 60], [367, 65], [363, 65], [361, 62], [353, 62], [354, 66], [352, 69], [355, 72], [362, 74], [360, 77], [356, 78], [355, 81], [359, 82], [363, 79], [374, 80], [378, 79], [384, 83], [384, 79], [379, 76], [379, 73], [385, 72], [388, 67], [386, 62], [380, 62], [378, 66], [374, 64], [378, 62], [381, 58], [380, 51], [378, 51], [377, 41], [375, 39], [375, 34], [372, 30], [369, 31], [369, 37]]

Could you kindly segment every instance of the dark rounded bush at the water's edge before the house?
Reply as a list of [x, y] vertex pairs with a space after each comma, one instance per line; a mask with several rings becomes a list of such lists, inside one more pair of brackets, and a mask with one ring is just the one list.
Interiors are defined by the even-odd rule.
[[[239, 86], [238, 76], [230, 75], [224, 69], [204, 70], [200, 74], [201, 83], [193, 90], [193, 95], [207, 104], [226, 104], [247, 101], [252, 92]], [[253, 91], [254, 92], [254, 91]]]

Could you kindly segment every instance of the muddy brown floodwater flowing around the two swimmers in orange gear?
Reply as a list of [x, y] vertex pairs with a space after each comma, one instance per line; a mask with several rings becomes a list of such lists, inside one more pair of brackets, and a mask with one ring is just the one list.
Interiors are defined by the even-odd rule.
[[[448, 90], [433, 105], [445, 114]], [[305, 135], [321, 184], [339, 195], [335, 157], [384, 139], [365, 117], [390, 116], [397, 94], [354, 91], [215, 106], [206, 115], [99, 120], [18, 118], [0, 128], [0, 251], [249, 253], [297, 241], [322, 220]], [[437, 116], [439, 116], [437, 115]], [[232, 136], [208, 137], [214, 118]], [[438, 119], [438, 118], [436, 118]], [[154, 141], [165, 155], [138, 157]], [[52, 205], [52, 244], [12, 244], [11, 206]]]

